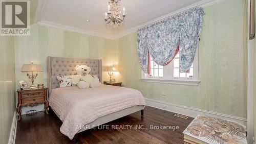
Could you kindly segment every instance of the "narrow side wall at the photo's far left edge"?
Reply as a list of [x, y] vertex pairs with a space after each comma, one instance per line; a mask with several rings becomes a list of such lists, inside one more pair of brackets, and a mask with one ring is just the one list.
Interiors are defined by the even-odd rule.
[[15, 112], [15, 74], [13, 37], [0, 36], [0, 141], [8, 143]]

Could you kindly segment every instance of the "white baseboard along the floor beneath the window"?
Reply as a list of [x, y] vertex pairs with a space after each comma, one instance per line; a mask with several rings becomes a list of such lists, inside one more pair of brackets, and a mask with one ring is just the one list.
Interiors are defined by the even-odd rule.
[[198, 114], [214, 116], [214, 117], [226, 119], [228, 121], [233, 121], [233, 122], [240, 123], [240, 124], [247, 126], [246, 118], [227, 115], [227, 114], [221, 114], [218, 112], [212, 112], [212, 111], [201, 110], [201, 109], [197, 109], [197, 108], [191, 108], [191, 107], [186, 107], [186, 106], [181, 106], [181, 105], [176, 105], [176, 104], [170, 104], [170, 103], [152, 100], [152, 99], [146, 99], [146, 105], [155, 107], [158, 109], [163, 109], [166, 111], [174, 112], [174, 113], [179, 113], [182, 115], [187, 115], [190, 117], [196, 117]]

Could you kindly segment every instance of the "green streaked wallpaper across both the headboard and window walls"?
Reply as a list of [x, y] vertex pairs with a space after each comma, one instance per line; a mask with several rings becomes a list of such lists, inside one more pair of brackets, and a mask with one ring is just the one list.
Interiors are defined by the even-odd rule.
[[[44, 69], [35, 84], [47, 85], [47, 56], [102, 59], [103, 66], [118, 65], [114, 78], [140, 90], [145, 98], [246, 118], [246, 13], [245, 0], [205, 8], [198, 49], [199, 86], [141, 82], [136, 33], [110, 40], [40, 25], [31, 26], [31, 36], [15, 37], [16, 82], [29, 82], [20, 69], [33, 61]], [[104, 72], [103, 80], [108, 79]]]

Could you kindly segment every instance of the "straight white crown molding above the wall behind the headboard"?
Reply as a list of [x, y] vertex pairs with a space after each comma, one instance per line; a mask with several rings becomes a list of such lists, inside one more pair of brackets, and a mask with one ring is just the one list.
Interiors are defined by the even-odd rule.
[[84, 30], [84, 29], [80, 29], [80, 28], [76, 28], [76, 27], [72, 27], [72, 26], [67, 26], [67, 25], [62, 25], [60, 23], [51, 22], [51, 21], [48, 21], [48, 20], [41, 20], [41, 21], [37, 22], [37, 24], [42, 25], [42, 26], [49, 26], [49, 27], [54, 27], [54, 28], [58, 28], [58, 29], [62, 29], [62, 30], [72, 31], [72, 32], [76, 32], [76, 33], [82, 33], [82, 34], [97, 36], [97, 37], [101, 37], [101, 38], [113, 39], [113, 37], [111, 35], [105, 35], [105, 34], [101, 34], [101, 33], [87, 31], [87, 30]]

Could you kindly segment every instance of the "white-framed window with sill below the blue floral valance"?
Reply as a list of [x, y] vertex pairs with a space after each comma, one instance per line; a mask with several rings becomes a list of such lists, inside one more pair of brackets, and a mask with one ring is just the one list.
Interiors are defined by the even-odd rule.
[[179, 53], [172, 62], [165, 66], [158, 65], [151, 58], [151, 74], [148, 75], [142, 71], [142, 81], [198, 85], [198, 54], [196, 54], [194, 63], [191, 65], [188, 73], [179, 72], [179, 61]]

